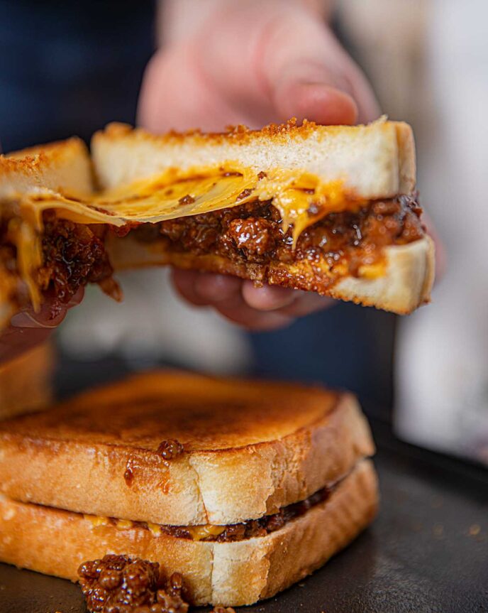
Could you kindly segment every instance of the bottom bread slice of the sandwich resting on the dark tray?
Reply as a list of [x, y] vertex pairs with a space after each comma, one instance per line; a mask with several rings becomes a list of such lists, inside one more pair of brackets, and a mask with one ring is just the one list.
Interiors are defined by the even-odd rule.
[[190, 541], [120, 521], [0, 499], [0, 560], [77, 580], [85, 560], [106, 553], [159, 562], [182, 573], [194, 604], [238, 606], [275, 595], [309, 575], [365, 528], [377, 510], [375, 468], [362, 460], [331, 495], [283, 528], [245, 541]]

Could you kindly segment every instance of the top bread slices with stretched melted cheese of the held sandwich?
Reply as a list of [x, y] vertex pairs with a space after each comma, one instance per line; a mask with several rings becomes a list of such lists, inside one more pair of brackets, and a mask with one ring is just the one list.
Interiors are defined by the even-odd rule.
[[118, 227], [272, 200], [296, 241], [328, 212], [415, 189], [411, 128], [384, 119], [164, 136], [111, 124], [94, 135], [91, 154], [98, 192], [78, 139], [0, 156], [0, 198], [17, 199], [38, 223], [55, 209], [63, 219]]

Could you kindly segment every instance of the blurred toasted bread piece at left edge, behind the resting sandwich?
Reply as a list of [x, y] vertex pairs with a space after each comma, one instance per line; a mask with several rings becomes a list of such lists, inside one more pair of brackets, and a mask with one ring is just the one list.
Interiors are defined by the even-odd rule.
[[49, 343], [0, 366], [0, 419], [45, 408], [52, 401], [54, 366]]

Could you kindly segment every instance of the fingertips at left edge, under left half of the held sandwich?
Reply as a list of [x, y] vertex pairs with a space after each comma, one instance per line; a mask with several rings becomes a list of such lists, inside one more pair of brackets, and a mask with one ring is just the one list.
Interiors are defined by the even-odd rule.
[[53, 308], [52, 300], [47, 298], [39, 313], [28, 309], [13, 315], [9, 327], [0, 333], [0, 364], [47, 340], [68, 310], [82, 301], [83, 295], [84, 290], [80, 288], [65, 306]]

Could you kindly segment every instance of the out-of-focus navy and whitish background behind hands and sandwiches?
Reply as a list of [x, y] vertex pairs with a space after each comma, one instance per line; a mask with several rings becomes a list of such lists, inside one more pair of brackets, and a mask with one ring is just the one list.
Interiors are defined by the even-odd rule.
[[[134, 124], [156, 11], [0, 0], [3, 150]], [[382, 111], [414, 127], [421, 203], [448, 254], [431, 306], [400, 320], [338, 303], [250, 334], [182, 303], [167, 271], [128, 273], [122, 305], [88, 288], [58, 331], [57, 394], [157, 364], [320, 381], [404, 440], [488, 464], [487, 18], [484, 0], [338, 0], [332, 13]]]

